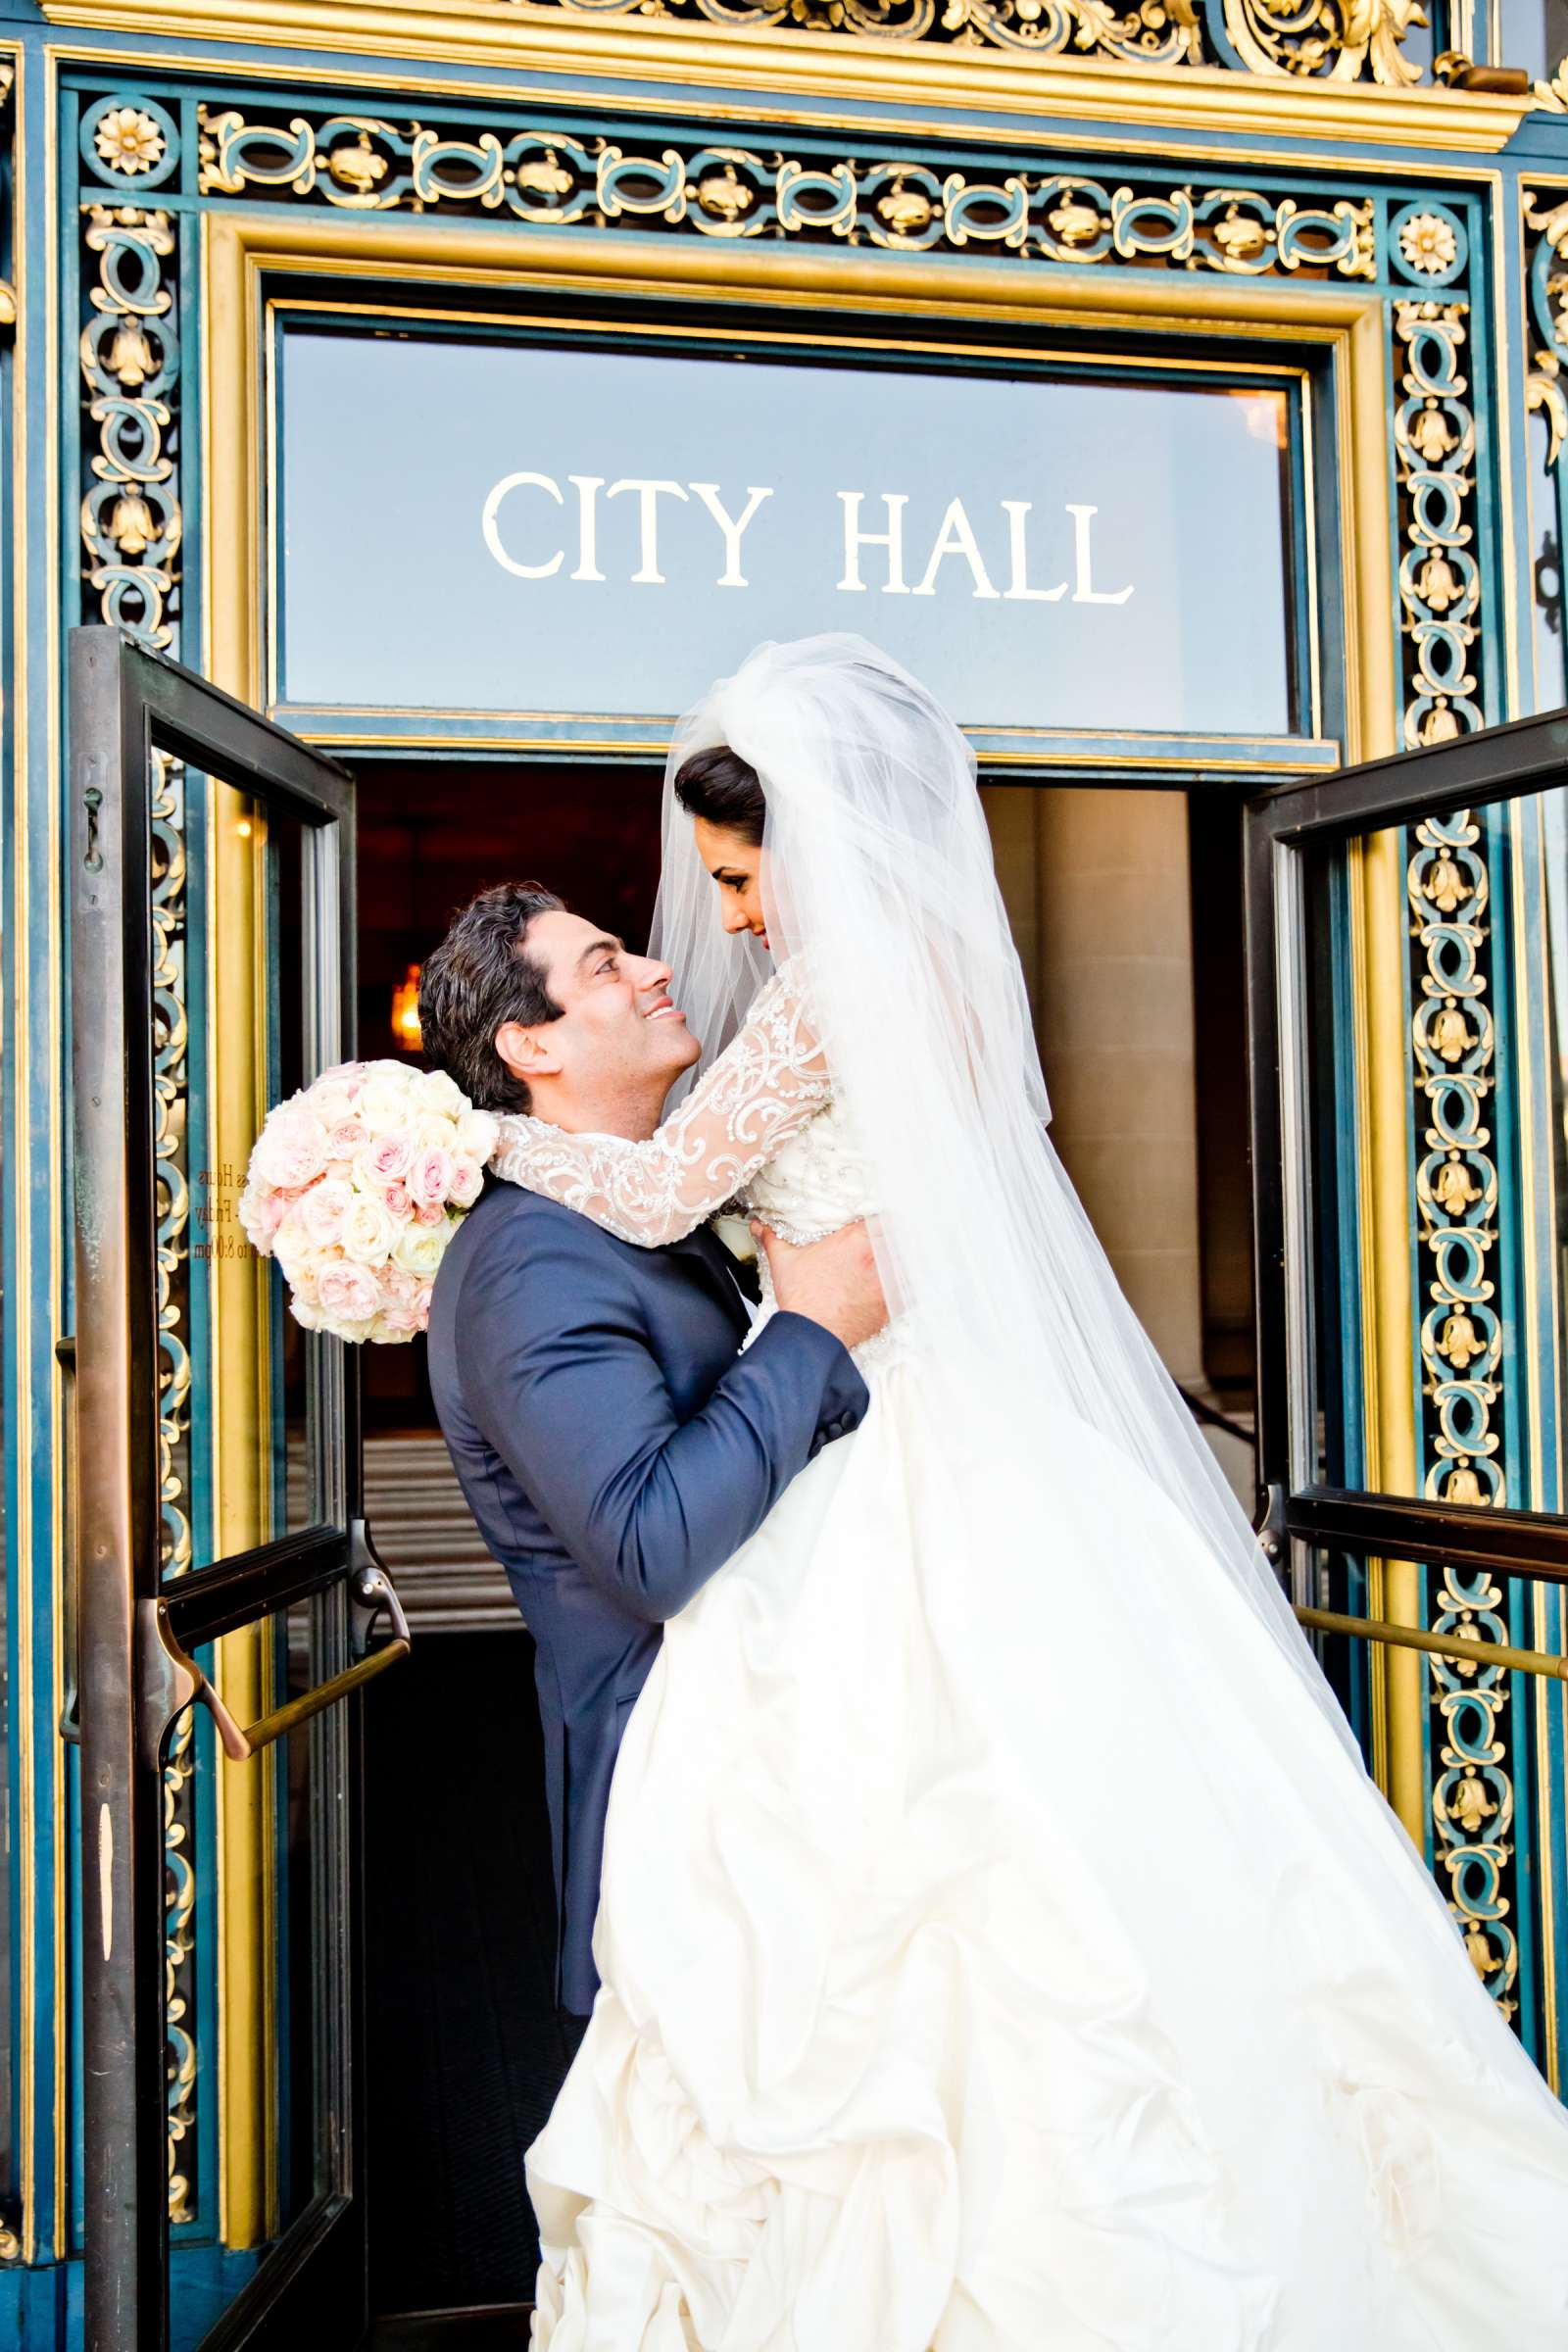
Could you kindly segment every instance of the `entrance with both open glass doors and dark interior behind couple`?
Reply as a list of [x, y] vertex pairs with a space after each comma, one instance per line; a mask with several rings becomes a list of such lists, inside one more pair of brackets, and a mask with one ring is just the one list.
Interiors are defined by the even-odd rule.
[[[1063, 1157], [1166, 1362], [1194, 1367], [1194, 1409], [1241, 1456], [1246, 1421], [1204, 1392], [1204, 1301], [1222, 1294], [1204, 1244], [1244, 1247], [1225, 1216], [1241, 1033], [1201, 1007], [1246, 1004], [1265, 1543], [1410, 1835], [1436, 1825], [1472, 1959], [1549, 2072], [1552, 1910], [1521, 1900], [1505, 1837], [1528, 1806], [1535, 1844], [1561, 1842], [1559, 1430], [1519, 1352], [1537, 1334], [1559, 1378], [1559, 776], [1561, 724], [1537, 720], [1246, 807], [1175, 779], [983, 783]], [[534, 2260], [517, 2166], [567, 2060], [527, 1630], [482, 1557], [433, 1557], [456, 1522], [418, 1343], [301, 1336], [275, 1263], [230, 1247], [226, 1202], [273, 1103], [350, 1051], [418, 1051], [409, 967], [482, 882], [541, 870], [639, 936], [658, 774], [367, 757], [355, 783], [82, 630], [71, 790], [73, 981], [96, 1009], [75, 1063], [87, 2340], [266, 2347], [303, 2307], [331, 2307], [346, 2343], [371, 2317], [418, 2340], [421, 2307], [517, 2317]], [[179, 924], [174, 793], [200, 854]], [[176, 950], [190, 1030], [162, 1011]], [[1415, 1221], [1410, 1105], [1389, 1087], [1410, 1018]], [[1159, 1124], [1138, 1127], [1150, 1096]], [[160, 1249], [181, 1188], [207, 1204], [183, 1263]], [[1500, 1414], [1509, 1378], [1537, 1395], [1523, 1428]], [[378, 1505], [393, 1573], [362, 1503], [378, 1446], [407, 1505], [402, 1522], [397, 1491]], [[1232, 1475], [1246, 1491], [1251, 1463]], [[1439, 1578], [1443, 1623], [1425, 1630]], [[376, 1715], [397, 1686], [364, 1684], [411, 1642]], [[1432, 1799], [1403, 1663], [1422, 1651], [1446, 1736]], [[188, 1853], [221, 1889], [216, 1922], [179, 1912]], [[202, 2086], [212, 2152], [186, 2145]], [[430, 2166], [414, 2197], [411, 2145], [437, 2152], [435, 2201]], [[167, 2166], [183, 2201], [179, 2166], [200, 2178], [214, 2154], [221, 2234], [197, 2244]]]

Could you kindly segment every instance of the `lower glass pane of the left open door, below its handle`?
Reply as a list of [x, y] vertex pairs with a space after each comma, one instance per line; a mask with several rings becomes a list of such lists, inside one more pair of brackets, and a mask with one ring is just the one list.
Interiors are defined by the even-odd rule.
[[[313, 1689], [331, 1670], [324, 1611], [299, 1602], [214, 1644], [212, 1665], [230, 1708], [254, 1722]], [[190, 2227], [172, 2190], [169, 2307], [174, 2352], [195, 2352], [254, 2277], [263, 2256], [327, 2187], [327, 1992], [334, 1905], [317, 1823], [341, 1785], [341, 1712], [315, 1717], [244, 1764], [216, 1755], [216, 1985], [221, 2034], [188, 2046], [183, 2110], [205, 2119], [219, 2180], [190, 2201]], [[172, 2053], [181, 2049], [172, 2037]], [[179, 2150], [176, 2150], [179, 2154]]]

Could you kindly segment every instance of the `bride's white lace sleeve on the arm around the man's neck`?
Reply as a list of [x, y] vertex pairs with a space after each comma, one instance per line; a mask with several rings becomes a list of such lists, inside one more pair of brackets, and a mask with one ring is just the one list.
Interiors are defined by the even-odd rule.
[[623, 1242], [658, 1249], [733, 1200], [830, 1098], [799, 988], [778, 971], [736, 1042], [646, 1143], [574, 1136], [512, 1112], [498, 1122], [491, 1167]]

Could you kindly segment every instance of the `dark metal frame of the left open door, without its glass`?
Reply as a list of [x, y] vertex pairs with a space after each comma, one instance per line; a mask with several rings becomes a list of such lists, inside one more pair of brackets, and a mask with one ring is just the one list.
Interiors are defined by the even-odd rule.
[[[162, 1743], [202, 1696], [186, 1651], [357, 1578], [360, 1632], [378, 1606], [364, 1541], [357, 1388], [317, 1341], [315, 1494], [322, 1522], [176, 1583], [160, 1583], [158, 1256], [153, 1167], [150, 816], [155, 755], [287, 811], [306, 828], [306, 1068], [353, 1042], [353, 781], [190, 670], [115, 628], [71, 633], [71, 920], [75, 1094], [75, 1578], [82, 1757], [85, 2298], [89, 2352], [162, 2352], [169, 2333], [165, 2176]], [[348, 1653], [348, 1609], [327, 1646]], [[195, 1686], [193, 1686], [195, 1679]], [[334, 1675], [339, 1686], [346, 1677]], [[357, 1682], [369, 1679], [364, 1663]], [[357, 1686], [355, 1682], [355, 1686]], [[320, 1693], [310, 1693], [317, 1698]], [[313, 1731], [315, 1863], [327, 1931], [317, 1999], [343, 2032], [327, 2082], [327, 2185], [282, 2232], [207, 2347], [261, 2343], [334, 2312], [364, 2317], [364, 2213], [355, 2194], [360, 1903], [353, 1700]], [[223, 1766], [219, 1766], [223, 1769]], [[308, 2300], [306, 2300], [308, 2296]], [[310, 2331], [306, 2331], [310, 2333]]]

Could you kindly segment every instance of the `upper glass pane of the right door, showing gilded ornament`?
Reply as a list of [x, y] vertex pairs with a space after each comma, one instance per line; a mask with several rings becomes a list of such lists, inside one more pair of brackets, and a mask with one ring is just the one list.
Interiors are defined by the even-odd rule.
[[1328, 1484], [1561, 1508], [1566, 898], [1561, 790], [1368, 833], [1312, 873]]

